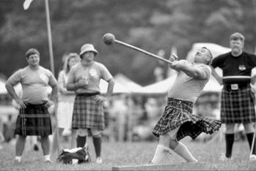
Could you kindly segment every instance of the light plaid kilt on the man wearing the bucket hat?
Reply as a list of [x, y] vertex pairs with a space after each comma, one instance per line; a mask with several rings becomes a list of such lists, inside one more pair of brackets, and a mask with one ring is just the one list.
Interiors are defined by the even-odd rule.
[[105, 128], [103, 103], [97, 103], [95, 96], [76, 96], [72, 128], [103, 130]]

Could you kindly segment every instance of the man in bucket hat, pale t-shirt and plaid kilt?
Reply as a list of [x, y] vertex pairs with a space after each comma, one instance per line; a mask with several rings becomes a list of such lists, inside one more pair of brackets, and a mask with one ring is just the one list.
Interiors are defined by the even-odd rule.
[[[103, 64], [94, 61], [98, 51], [91, 44], [81, 47], [81, 62], [70, 69], [67, 90], [75, 91], [72, 128], [78, 129], [77, 147], [84, 148], [87, 132], [92, 133], [96, 162], [101, 163], [101, 130], [105, 127], [103, 101], [113, 92], [114, 80]], [[105, 96], [100, 94], [100, 79], [109, 83]]]

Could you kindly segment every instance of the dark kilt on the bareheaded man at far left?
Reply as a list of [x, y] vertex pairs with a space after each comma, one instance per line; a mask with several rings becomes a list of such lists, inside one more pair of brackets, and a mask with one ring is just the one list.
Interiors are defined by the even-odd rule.
[[15, 134], [21, 136], [38, 135], [41, 137], [52, 134], [51, 118], [45, 104], [26, 104], [19, 110]]

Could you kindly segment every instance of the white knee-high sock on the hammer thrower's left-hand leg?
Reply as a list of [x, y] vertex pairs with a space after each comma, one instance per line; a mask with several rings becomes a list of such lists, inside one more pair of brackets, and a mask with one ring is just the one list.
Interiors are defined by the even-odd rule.
[[171, 148], [165, 147], [164, 145], [157, 145], [155, 155], [152, 159], [152, 163], [160, 164], [161, 161], [167, 156], [167, 153], [170, 153], [171, 151]]

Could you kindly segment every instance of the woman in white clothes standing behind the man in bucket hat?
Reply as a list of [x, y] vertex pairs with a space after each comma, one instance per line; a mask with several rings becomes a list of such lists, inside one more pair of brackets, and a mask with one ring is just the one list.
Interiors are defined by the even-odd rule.
[[[64, 129], [68, 129], [71, 132], [70, 149], [76, 148], [76, 129], [72, 129], [72, 115], [73, 115], [73, 105], [75, 101], [76, 94], [74, 91], [67, 91], [67, 77], [70, 69], [75, 64], [78, 64], [80, 58], [77, 53], [69, 53], [65, 58], [64, 69], [59, 72], [58, 85], [59, 85], [59, 96], [58, 96], [58, 108], [57, 108], [57, 119], [58, 128], [54, 134], [54, 140], [52, 143], [51, 153], [54, 153], [58, 148], [59, 142]], [[57, 134], [58, 133], [58, 134]], [[59, 135], [59, 137], [58, 137]]]

